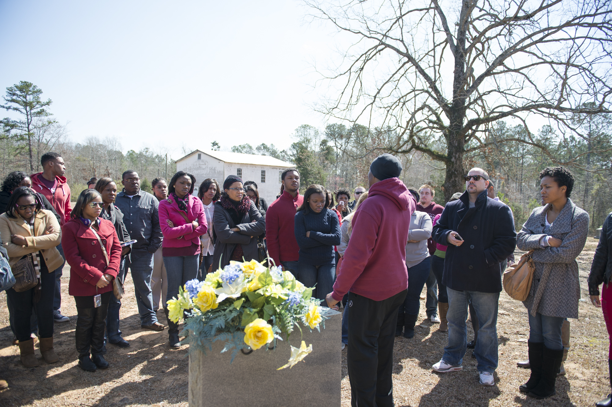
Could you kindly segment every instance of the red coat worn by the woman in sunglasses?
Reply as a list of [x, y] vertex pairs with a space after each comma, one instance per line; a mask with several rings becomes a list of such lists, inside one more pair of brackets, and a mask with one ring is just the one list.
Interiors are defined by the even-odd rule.
[[62, 226], [62, 249], [70, 265], [69, 295], [88, 296], [113, 290], [112, 283], [97, 290], [95, 285], [103, 274], [117, 277], [121, 263], [121, 244], [114, 225], [106, 219], [100, 219], [97, 233], [105, 245], [108, 265], [94, 232], [80, 219], [70, 219]]

